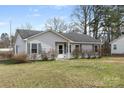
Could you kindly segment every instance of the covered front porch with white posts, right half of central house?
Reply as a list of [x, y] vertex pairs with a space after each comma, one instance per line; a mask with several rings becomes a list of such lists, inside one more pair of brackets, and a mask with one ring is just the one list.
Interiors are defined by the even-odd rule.
[[71, 43], [71, 42], [56, 42], [55, 50], [57, 51], [57, 58], [69, 59], [74, 57], [75, 50], [79, 52], [80, 57], [83, 54], [97, 54], [101, 56], [101, 45], [100, 44], [82, 44], [82, 43]]

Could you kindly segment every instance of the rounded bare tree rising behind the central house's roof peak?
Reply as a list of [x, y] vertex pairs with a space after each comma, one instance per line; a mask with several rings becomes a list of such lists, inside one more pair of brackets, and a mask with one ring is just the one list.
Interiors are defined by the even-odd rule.
[[63, 32], [67, 30], [67, 24], [65, 21], [59, 17], [54, 17], [51, 19], [48, 19], [45, 24], [46, 29], [51, 29], [56, 32]]

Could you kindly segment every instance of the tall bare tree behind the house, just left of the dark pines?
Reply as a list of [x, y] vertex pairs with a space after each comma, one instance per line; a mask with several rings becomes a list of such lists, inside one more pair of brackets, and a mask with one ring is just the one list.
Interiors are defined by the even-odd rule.
[[88, 34], [89, 22], [91, 21], [92, 6], [80, 5], [75, 8], [72, 19], [84, 34]]

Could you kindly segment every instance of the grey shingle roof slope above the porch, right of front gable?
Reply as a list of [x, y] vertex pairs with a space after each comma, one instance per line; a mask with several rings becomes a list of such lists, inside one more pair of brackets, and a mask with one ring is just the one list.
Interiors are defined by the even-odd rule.
[[68, 39], [71, 39], [74, 42], [100, 42], [100, 40], [94, 39], [91, 36], [81, 33], [70, 32], [70, 33], [61, 33], [61, 34], [67, 37]]

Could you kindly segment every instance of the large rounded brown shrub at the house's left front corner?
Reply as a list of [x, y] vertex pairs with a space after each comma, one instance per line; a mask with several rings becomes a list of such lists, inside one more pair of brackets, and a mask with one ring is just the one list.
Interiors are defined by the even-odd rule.
[[28, 62], [27, 61], [27, 55], [26, 54], [17, 54], [17, 55], [14, 55], [11, 58], [11, 60], [13, 60], [15, 64]]

